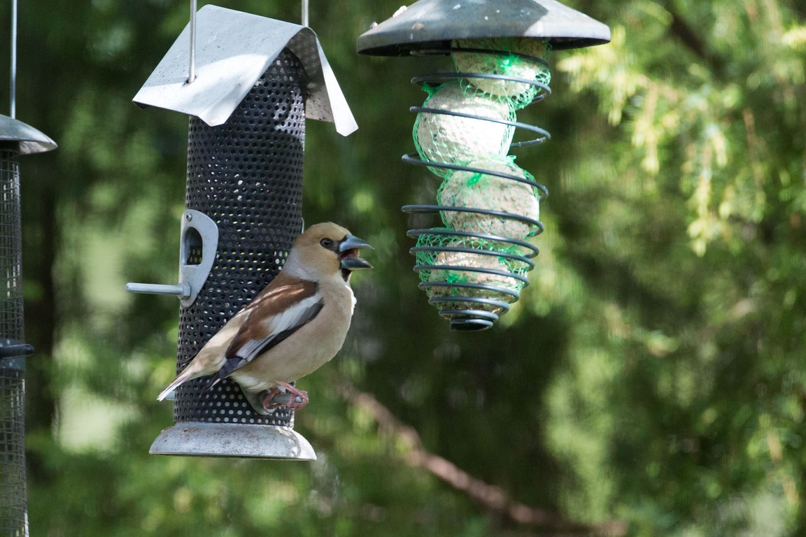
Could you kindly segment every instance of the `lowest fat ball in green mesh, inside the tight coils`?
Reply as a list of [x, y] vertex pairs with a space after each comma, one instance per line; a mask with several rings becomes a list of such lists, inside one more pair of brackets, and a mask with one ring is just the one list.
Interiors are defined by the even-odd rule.
[[[451, 231], [450, 229], [434, 229], [435, 232], [440, 230]], [[456, 298], [455, 301], [435, 303], [440, 310], [480, 309], [487, 312], [501, 313], [504, 308], [499, 305], [480, 304], [463, 300], [463, 298], [493, 299], [510, 304], [517, 300], [517, 291], [520, 291], [526, 285], [521, 279], [513, 276], [526, 275], [529, 266], [521, 260], [500, 255], [521, 254], [517, 247], [505, 242], [485, 241], [479, 238], [461, 237], [450, 233], [426, 233], [420, 235], [417, 246], [475, 250], [422, 250], [417, 252], [418, 265], [467, 267], [467, 270], [433, 268], [420, 271], [420, 279], [423, 283], [434, 284], [426, 287], [426, 294], [429, 298], [435, 296]], [[439, 283], [455, 285], [447, 286], [439, 285]], [[463, 284], [470, 285], [463, 287]], [[472, 285], [496, 287], [501, 290], [514, 291], [516, 294], [513, 295], [495, 289], [472, 287]]]

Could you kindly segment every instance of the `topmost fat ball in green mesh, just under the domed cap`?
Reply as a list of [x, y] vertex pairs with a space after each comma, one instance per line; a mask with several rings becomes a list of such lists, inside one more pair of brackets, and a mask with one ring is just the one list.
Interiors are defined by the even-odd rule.
[[[457, 72], [512, 76], [545, 85], [551, 81], [549, 68], [532, 59], [548, 59], [550, 52], [548, 39], [523, 37], [455, 39], [452, 46], [490, 51], [488, 53], [454, 52], [451, 56]], [[531, 56], [531, 58], [526, 56]], [[509, 101], [514, 109], [521, 109], [528, 105], [542, 91], [538, 86], [524, 82], [478, 77], [463, 79], [463, 88], [468, 91], [481, 91], [492, 101]]]

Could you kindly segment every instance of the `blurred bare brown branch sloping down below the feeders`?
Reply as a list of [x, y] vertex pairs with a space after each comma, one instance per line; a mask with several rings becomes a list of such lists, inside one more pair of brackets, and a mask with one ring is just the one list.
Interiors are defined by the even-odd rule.
[[[355, 390], [352, 386], [344, 386], [343, 396], [358, 407], [368, 411], [378, 423], [381, 433], [388, 436], [397, 436], [405, 440], [411, 448], [407, 458], [409, 465], [427, 469], [436, 477], [447, 482], [455, 489], [461, 490], [476, 502], [505, 514], [514, 522], [541, 526], [554, 531], [552, 535], [563, 537], [589, 537], [590, 535], [603, 535], [607, 537], [620, 537], [627, 533], [627, 523], [613, 520], [597, 524], [574, 523], [559, 514], [551, 513], [537, 507], [526, 506], [514, 501], [504, 490], [496, 485], [489, 485], [480, 479], [472, 477], [447, 459], [434, 455], [422, 447], [422, 440], [417, 431], [402, 423], [387, 407], [384, 407], [371, 394]], [[545, 534], [543, 534], [545, 535]]]

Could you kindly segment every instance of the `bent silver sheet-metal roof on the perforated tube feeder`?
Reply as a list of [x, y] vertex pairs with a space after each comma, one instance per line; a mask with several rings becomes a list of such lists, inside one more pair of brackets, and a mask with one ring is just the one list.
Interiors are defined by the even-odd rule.
[[358, 128], [314, 31], [298, 24], [207, 5], [196, 19], [196, 79], [188, 84], [189, 25], [133, 101], [197, 116], [210, 126], [230, 118], [243, 97], [289, 48], [308, 76], [305, 117], [334, 122], [347, 136]]

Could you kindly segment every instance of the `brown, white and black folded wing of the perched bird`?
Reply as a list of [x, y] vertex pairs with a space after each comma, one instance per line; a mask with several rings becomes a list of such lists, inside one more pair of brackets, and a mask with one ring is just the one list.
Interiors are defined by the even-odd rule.
[[322, 311], [322, 293], [316, 282], [283, 276], [280, 273], [276, 285], [267, 287], [247, 306], [247, 318], [226, 349], [218, 378], [226, 378], [278, 345]]

